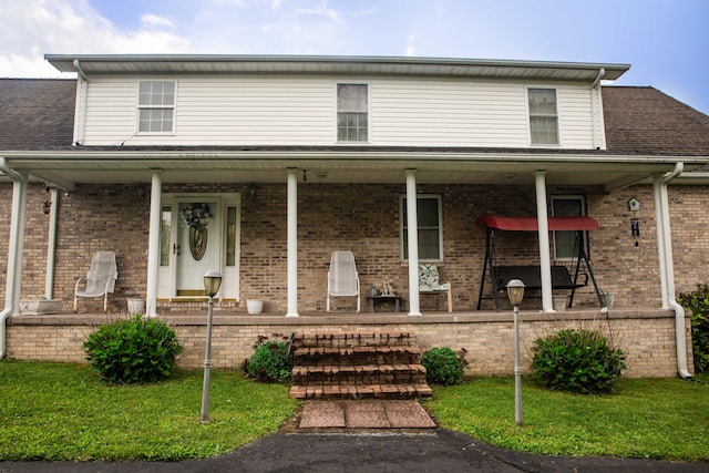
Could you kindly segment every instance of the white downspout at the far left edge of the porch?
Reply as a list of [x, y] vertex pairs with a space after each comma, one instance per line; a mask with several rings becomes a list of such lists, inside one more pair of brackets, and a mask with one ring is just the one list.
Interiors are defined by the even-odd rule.
[[10, 241], [8, 249], [8, 274], [4, 291], [4, 309], [0, 312], [0, 360], [7, 354], [8, 317], [20, 313], [20, 287], [22, 284], [22, 249], [24, 216], [27, 207], [27, 174], [10, 169], [4, 157], [0, 157], [0, 171], [12, 179], [12, 215], [10, 217]]

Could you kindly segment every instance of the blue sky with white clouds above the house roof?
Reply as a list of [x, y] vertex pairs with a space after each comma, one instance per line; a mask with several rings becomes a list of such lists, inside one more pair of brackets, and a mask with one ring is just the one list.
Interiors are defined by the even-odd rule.
[[48, 53], [621, 63], [709, 114], [707, 0], [0, 0], [0, 78], [61, 76]]

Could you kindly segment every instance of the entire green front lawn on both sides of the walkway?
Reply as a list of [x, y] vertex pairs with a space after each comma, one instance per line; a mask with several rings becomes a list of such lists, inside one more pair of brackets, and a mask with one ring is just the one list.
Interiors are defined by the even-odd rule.
[[[202, 371], [150, 385], [102, 384], [86, 364], [0, 361], [0, 460], [183, 460], [230, 452], [295, 414], [288, 388], [212, 371], [210, 420], [199, 423]], [[514, 379], [434, 387], [424, 402], [445, 429], [527, 452], [709, 461], [709, 384], [621, 380], [612, 395], [551, 392]]]

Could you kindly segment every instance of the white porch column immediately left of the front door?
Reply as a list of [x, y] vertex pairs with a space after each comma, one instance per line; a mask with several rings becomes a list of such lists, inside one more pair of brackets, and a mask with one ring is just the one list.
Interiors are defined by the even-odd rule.
[[160, 227], [163, 219], [163, 169], [153, 169], [151, 182], [151, 222], [147, 241], [147, 288], [145, 316], [157, 317], [157, 271], [160, 268]]

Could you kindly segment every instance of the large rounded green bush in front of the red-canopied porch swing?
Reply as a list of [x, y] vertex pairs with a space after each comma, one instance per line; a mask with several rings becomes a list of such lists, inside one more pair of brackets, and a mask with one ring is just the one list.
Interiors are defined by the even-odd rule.
[[534, 378], [552, 390], [608, 392], [627, 369], [623, 350], [594, 330], [561, 330], [535, 340], [532, 351]]

